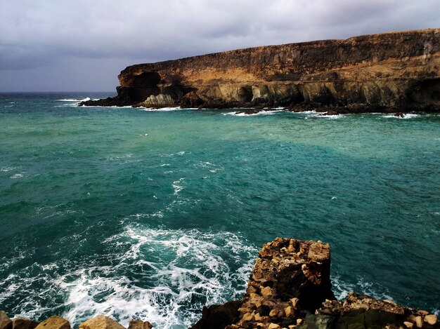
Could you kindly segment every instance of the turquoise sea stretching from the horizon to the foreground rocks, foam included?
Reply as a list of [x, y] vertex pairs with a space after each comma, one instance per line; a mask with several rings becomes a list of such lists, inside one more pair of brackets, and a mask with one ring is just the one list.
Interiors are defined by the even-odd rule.
[[440, 308], [440, 116], [77, 107], [0, 94], [0, 309], [187, 328], [276, 236], [349, 290]]

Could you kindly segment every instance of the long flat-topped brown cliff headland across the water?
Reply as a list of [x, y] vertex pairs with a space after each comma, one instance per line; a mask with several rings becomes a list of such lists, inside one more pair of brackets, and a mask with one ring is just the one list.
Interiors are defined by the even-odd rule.
[[81, 105], [440, 111], [440, 29], [245, 48], [132, 65]]

